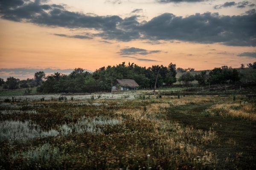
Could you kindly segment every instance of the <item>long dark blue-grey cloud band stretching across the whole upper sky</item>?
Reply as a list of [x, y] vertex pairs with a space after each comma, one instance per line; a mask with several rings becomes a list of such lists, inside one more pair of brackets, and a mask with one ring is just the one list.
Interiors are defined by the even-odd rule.
[[[235, 46], [256, 46], [255, 13], [240, 16], [222, 16], [218, 13], [208, 12], [188, 17], [165, 13], [152, 18], [148, 22], [138, 22], [137, 17], [139, 16], [124, 19], [116, 15], [91, 16], [68, 11], [62, 5], [43, 4], [40, 0], [1, 0], [0, 15], [1, 18], [6, 20], [29, 22], [42, 26], [93, 29], [98, 31], [93, 36], [105, 40], [125, 42], [138, 39], [156, 42], [158, 40], [180, 40], [198, 43], [217, 42]], [[79, 36], [76, 38], [79, 38]], [[82, 36], [87, 36], [87, 34]]]

